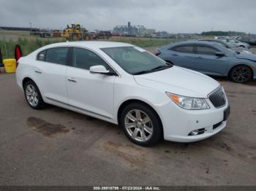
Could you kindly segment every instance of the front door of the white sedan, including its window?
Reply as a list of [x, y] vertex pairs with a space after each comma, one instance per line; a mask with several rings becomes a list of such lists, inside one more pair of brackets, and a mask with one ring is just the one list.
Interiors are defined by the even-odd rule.
[[[91, 66], [102, 65], [113, 71], [95, 52], [72, 48], [71, 66], [67, 69], [69, 105], [101, 117], [113, 117], [113, 93], [116, 76], [91, 74]], [[114, 72], [114, 71], [113, 71]]]

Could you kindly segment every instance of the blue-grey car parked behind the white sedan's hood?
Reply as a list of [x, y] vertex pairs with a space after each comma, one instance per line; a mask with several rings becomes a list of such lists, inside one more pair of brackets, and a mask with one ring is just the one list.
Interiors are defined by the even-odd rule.
[[238, 83], [256, 79], [256, 55], [236, 52], [213, 42], [177, 42], [157, 48], [156, 55], [176, 66], [230, 77]]

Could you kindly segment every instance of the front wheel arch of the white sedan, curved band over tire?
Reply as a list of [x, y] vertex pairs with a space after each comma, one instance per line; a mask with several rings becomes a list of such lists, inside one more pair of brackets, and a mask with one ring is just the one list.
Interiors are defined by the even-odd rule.
[[161, 117], [159, 116], [159, 114], [157, 113], [156, 109], [154, 109], [150, 104], [146, 103], [146, 101], [141, 101], [139, 99], [129, 99], [129, 100], [126, 100], [124, 101], [119, 107], [118, 107], [118, 112], [117, 112], [117, 121], [118, 121], [118, 124], [119, 124], [119, 121], [120, 121], [120, 117], [121, 117], [121, 112], [124, 110], [124, 108], [126, 106], [128, 106], [129, 104], [134, 104], [134, 103], [137, 103], [137, 104], [144, 104], [146, 106], [148, 106], [150, 109], [152, 109], [152, 111], [157, 115], [158, 119], [159, 119], [159, 122], [161, 122], [161, 128], [162, 128], [162, 138], [163, 138], [163, 135], [164, 135], [164, 128], [162, 126], [162, 120], [161, 120]]

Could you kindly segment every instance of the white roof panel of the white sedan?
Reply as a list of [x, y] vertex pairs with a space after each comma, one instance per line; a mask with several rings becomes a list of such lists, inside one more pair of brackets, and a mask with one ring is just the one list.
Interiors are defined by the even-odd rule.
[[50, 47], [56, 46], [79, 46], [88, 47], [91, 49], [99, 49], [105, 47], [130, 47], [132, 44], [122, 43], [122, 42], [105, 42], [105, 41], [79, 41], [79, 42], [60, 42], [55, 44], [50, 44]]

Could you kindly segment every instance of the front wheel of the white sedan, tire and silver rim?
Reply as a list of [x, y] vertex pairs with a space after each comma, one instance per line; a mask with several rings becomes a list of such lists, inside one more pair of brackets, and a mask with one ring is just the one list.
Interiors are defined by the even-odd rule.
[[146, 104], [134, 103], [126, 106], [121, 112], [119, 125], [130, 141], [143, 147], [157, 144], [162, 138], [162, 122], [157, 113]]

